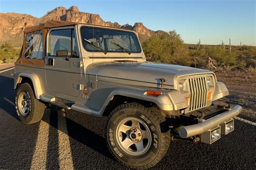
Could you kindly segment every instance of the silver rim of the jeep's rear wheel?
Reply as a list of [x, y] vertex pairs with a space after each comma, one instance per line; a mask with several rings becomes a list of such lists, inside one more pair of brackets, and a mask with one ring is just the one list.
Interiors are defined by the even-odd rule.
[[31, 101], [30, 101], [29, 94], [25, 92], [21, 92], [18, 98], [18, 107], [19, 107], [19, 112], [21, 112], [22, 115], [29, 114], [30, 104], [31, 104]]

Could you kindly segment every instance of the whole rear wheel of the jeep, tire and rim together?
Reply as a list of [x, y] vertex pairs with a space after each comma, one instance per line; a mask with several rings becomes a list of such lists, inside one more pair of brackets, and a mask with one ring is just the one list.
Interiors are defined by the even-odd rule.
[[24, 124], [37, 123], [42, 119], [45, 110], [45, 105], [35, 98], [29, 83], [18, 86], [15, 107], [19, 120]]

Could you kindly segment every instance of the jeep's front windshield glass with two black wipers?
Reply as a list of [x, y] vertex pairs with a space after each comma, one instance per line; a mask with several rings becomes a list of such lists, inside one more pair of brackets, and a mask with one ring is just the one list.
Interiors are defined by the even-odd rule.
[[87, 51], [127, 53], [142, 51], [138, 38], [133, 32], [83, 26], [81, 33], [84, 39], [83, 46]]

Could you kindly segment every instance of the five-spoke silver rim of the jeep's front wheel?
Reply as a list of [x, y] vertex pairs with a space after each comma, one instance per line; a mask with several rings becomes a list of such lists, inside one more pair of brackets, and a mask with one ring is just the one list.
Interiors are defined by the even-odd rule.
[[151, 145], [149, 127], [142, 120], [134, 117], [120, 121], [116, 138], [123, 151], [134, 156], [146, 153]]

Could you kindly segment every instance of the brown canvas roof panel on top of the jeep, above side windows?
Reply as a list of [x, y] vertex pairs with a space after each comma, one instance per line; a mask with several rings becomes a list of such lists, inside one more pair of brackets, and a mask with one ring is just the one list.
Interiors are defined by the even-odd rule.
[[36, 26], [28, 26], [28, 27], [24, 28], [24, 32], [28, 33], [28, 32], [42, 30], [45, 28], [55, 28], [55, 27], [59, 27], [59, 26], [71, 26], [71, 25], [77, 25], [77, 24], [79, 24], [79, 23], [68, 22], [68, 21], [46, 21], [45, 23], [39, 24]]

